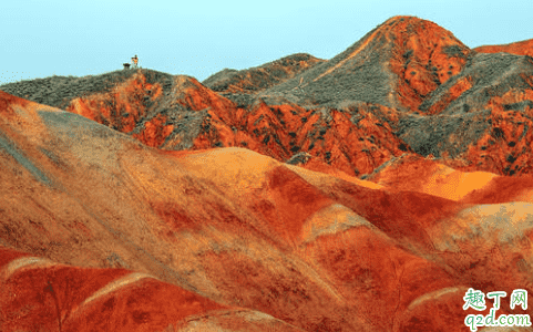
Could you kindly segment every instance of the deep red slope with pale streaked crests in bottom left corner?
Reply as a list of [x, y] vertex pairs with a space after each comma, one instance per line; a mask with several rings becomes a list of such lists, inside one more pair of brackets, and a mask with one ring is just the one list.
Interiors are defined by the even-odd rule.
[[2, 331], [301, 331], [125, 269], [55, 263], [0, 247]]

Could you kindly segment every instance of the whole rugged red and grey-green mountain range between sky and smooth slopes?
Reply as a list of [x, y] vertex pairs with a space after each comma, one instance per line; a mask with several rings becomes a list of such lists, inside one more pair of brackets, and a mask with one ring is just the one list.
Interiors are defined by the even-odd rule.
[[433, 22], [394, 17], [331, 60], [294, 54], [205, 85], [141, 70], [0, 89], [168, 151], [237, 146], [280, 162], [309, 153], [357, 176], [414, 152], [516, 175], [532, 170], [533, 62], [515, 53], [481, 53]]

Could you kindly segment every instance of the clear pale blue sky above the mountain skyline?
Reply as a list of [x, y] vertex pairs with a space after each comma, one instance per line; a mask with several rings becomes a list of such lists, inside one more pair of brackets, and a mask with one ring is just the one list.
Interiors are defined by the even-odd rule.
[[0, 10], [0, 84], [140, 65], [205, 80], [297, 52], [330, 59], [398, 14], [471, 48], [533, 38], [533, 0], [13, 0]]

